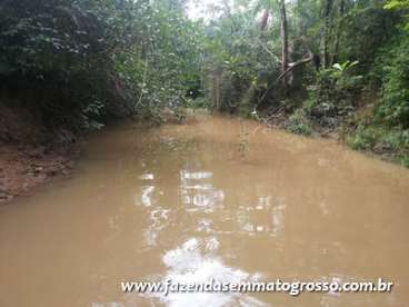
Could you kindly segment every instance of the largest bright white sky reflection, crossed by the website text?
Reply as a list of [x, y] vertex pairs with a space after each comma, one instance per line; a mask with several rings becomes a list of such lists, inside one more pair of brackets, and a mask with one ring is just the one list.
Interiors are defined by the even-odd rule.
[[[162, 256], [167, 273], [161, 280], [173, 283], [220, 283], [256, 281], [259, 276], [227, 266], [216, 251], [220, 242], [216, 237], [205, 239], [191, 238]], [[268, 306], [267, 304], [243, 294], [230, 293], [171, 293], [168, 296], [150, 295], [170, 307], [201, 306]]]

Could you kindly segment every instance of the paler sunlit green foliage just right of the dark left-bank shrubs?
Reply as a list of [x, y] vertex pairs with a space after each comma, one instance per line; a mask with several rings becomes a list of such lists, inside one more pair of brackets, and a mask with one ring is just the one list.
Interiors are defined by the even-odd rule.
[[163, 107], [188, 106], [186, 93], [200, 88], [201, 29], [181, 8], [162, 2], [141, 14], [142, 41], [116, 56], [117, 70], [136, 96], [134, 110], [158, 117]]

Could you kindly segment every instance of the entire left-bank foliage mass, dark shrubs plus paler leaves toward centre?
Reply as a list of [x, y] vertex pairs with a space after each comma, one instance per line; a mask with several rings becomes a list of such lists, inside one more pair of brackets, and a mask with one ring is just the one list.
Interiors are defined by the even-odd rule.
[[[50, 128], [150, 117], [200, 88], [200, 28], [173, 0], [6, 0], [0, 78]], [[17, 88], [16, 88], [17, 87]]]

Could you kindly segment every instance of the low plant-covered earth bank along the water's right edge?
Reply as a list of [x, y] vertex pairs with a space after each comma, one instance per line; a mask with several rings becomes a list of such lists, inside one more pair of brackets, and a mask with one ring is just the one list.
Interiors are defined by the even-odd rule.
[[291, 112], [272, 109], [256, 115], [256, 119], [269, 128], [332, 139], [366, 156], [409, 167], [409, 130], [373, 122], [372, 118], [373, 103], [361, 103], [350, 116], [317, 116], [303, 107]]

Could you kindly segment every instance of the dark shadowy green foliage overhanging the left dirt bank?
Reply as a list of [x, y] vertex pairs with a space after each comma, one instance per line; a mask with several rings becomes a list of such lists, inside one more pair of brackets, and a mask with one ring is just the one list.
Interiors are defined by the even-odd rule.
[[[136, 39], [147, 1], [22, 0], [0, 3], [0, 78], [34, 92], [29, 108], [49, 128], [99, 127], [129, 113], [131, 97], [112, 57]], [[96, 107], [98, 106], [98, 107]]]

